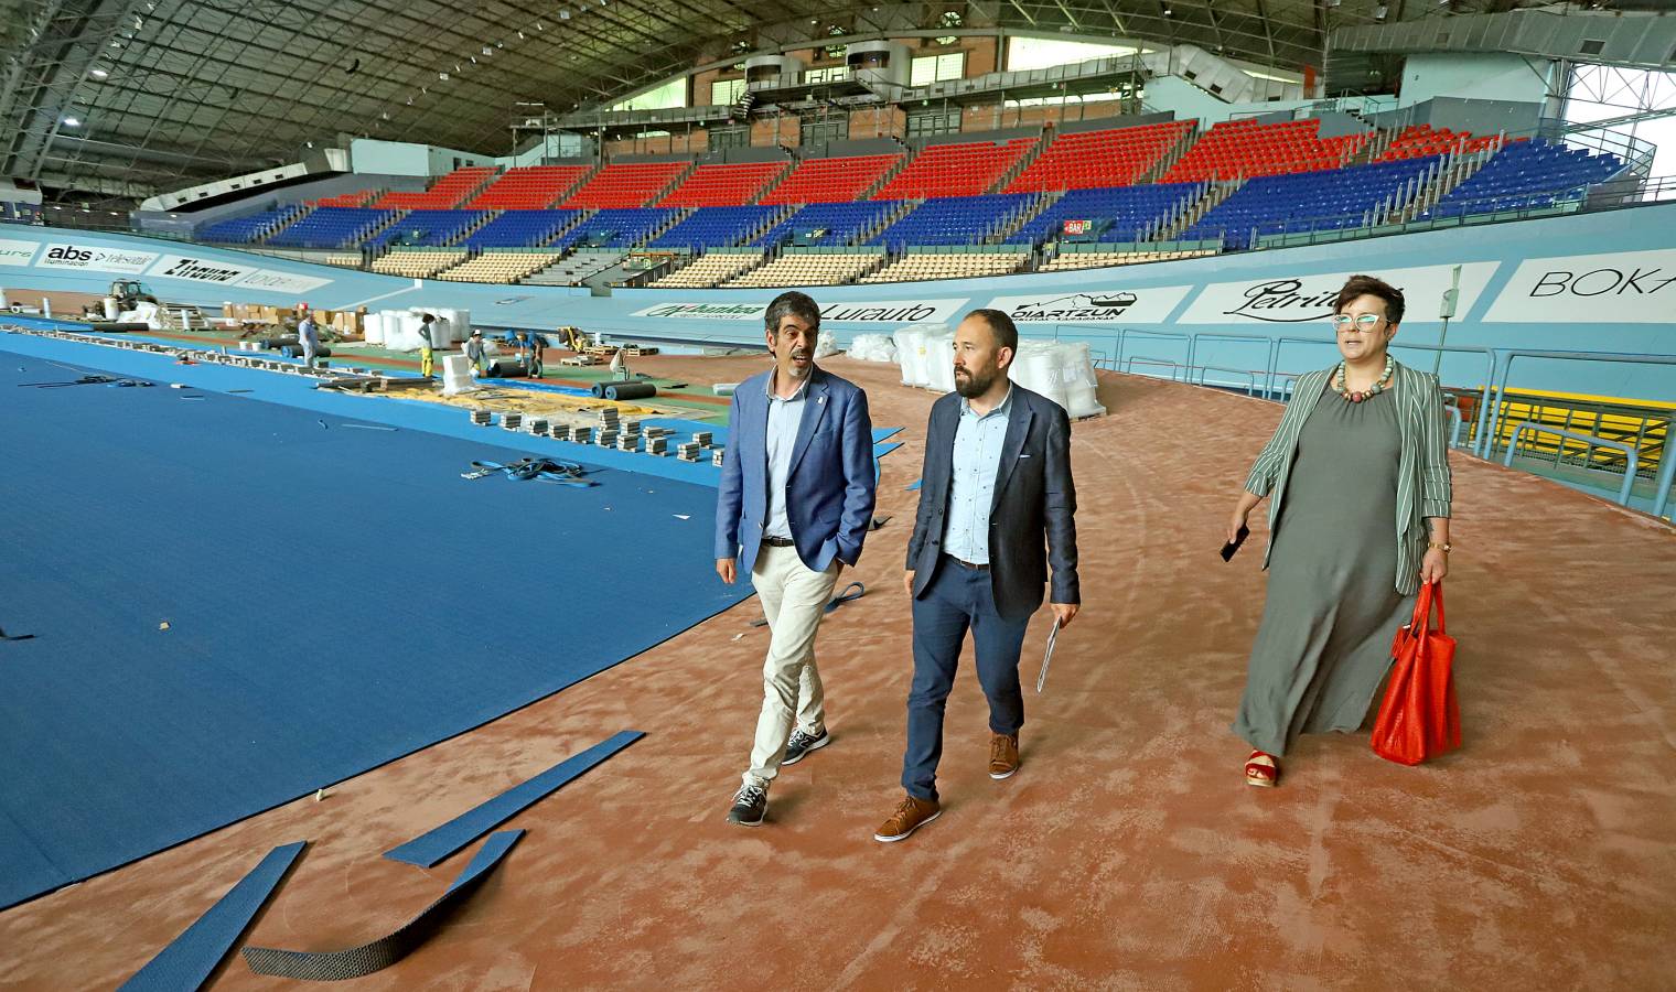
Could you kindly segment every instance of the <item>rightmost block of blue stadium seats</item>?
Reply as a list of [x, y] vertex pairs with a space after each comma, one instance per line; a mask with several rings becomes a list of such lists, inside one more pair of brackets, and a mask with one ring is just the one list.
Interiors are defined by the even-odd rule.
[[1518, 141], [1495, 152], [1472, 178], [1421, 213], [1421, 218], [1500, 213], [1554, 206], [1582, 186], [1604, 183], [1624, 168], [1614, 154], [1547, 141]]

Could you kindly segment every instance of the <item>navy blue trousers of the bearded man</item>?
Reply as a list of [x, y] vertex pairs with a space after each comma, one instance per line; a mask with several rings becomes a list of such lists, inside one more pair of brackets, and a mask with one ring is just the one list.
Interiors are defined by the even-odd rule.
[[977, 680], [989, 699], [989, 729], [1017, 734], [1024, 726], [1019, 648], [1029, 622], [1029, 617], [1007, 620], [996, 613], [989, 573], [952, 560], [939, 565], [925, 595], [913, 600], [913, 689], [908, 692], [908, 751], [902, 757], [902, 788], [910, 796], [937, 798], [944, 707], [967, 630], [977, 652]]

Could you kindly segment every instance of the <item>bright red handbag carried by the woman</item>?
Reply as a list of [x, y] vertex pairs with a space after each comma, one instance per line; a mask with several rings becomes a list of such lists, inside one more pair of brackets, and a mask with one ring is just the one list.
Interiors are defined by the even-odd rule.
[[[1431, 628], [1431, 607], [1438, 627]], [[1391, 682], [1373, 724], [1373, 752], [1398, 764], [1420, 764], [1461, 746], [1455, 699], [1455, 638], [1443, 632], [1443, 586], [1425, 583], [1415, 618], [1391, 642]]]

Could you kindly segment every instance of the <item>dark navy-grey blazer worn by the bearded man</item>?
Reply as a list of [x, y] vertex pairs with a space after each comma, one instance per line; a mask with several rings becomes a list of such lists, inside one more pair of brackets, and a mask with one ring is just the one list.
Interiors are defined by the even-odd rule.
[[[920, 509], [908, 540], [913, 597], [925, 595], [944, 565], [942, 538], [954, 469], [960, 394], [932, 404], [925, 429]], [[1051, 399], [1012, 384], [1007, 437], [1001, 446], [996, 501], [989, 514], [989, 581], [996, 610], [1029, 617], [1042, 603], [1053, 563], [1053, 602], [1081, 603], [1076, 585], [1076, 484], [1071, 481], [1071, 419]], [[1046, 540], [1046, 548], [1044, 548]]]

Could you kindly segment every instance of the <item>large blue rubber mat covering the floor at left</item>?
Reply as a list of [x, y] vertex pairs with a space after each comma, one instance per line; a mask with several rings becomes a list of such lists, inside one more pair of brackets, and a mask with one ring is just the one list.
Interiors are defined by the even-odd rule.
[[0, 630], [35, 635], [0, 642], [0, 908], [469, 731], [751, 593], [716, 578], [707, 486], [468, 481], [520, 439], [18, 385], [84, 370], [0, 352]]

